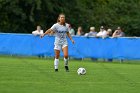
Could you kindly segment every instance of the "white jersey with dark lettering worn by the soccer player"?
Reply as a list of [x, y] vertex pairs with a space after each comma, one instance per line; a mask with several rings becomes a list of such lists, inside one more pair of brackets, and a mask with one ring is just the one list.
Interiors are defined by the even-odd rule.
[[67, 32], [68, 32], [68, 24], [60, 25], [59, 23], [54, 24], [51, 29], [55, 32], [55, 42], [56, 45], [67, 44]]

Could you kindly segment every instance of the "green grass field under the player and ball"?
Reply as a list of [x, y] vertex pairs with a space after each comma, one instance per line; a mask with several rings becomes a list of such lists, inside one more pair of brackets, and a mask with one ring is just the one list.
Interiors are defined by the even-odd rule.
[[[54, 72], [53, 59], [0, 57], [0, 93], [140, 93], [140, 63], [63, 60]], [[84, 67], [86, 75], [77, 75]]]

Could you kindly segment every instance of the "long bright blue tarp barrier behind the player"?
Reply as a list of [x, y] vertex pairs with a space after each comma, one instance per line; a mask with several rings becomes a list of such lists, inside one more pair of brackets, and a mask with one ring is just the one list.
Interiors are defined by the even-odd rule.
[[[75, 58], [140, 59], [140, 38], [95, 38], [73, 36], [69, 56]], [[54, 56], [54, 36], [0, 34], [0, 54]], [[61, 52], [61, 56], [63, 56]]]

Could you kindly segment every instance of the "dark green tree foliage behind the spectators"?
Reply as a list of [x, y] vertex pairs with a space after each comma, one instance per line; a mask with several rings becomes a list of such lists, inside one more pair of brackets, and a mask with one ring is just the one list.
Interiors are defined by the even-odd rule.
[[59, 13], [75, 30], [90, 26], [116, 29], [140, 36], [140, 0], [0, 0], [0, 32], [31, 33], [37, 25], [50, 28]]

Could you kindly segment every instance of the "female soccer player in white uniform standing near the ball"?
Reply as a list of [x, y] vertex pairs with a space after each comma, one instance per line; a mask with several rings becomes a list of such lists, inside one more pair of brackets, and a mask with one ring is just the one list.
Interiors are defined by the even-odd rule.
[[49, 34], [51, 32], [55, 33], [55, 42], [54, 42], [54, 51], [55, 51], [55, 60], [54, 60], [54, 68], [55, 71], [58, 72], [58, 63], [59, 63], [59, 56], [60, 56], [60, 50], [62, 49], [64, 53], [64, 63], [65, 63], [65, 69], [68, 72], [68, 43], [67, 38], [68, 36], [72, 43], [74, 44], [74, 40], [69, 34], [68, 31], [68, 24], [65, 22], [65, 15], [59, 14], [57, 23], [55, 23], [50, 29], [48, 29], [44, 34], [41, 35], [41, 38], [44, 37], [46, 34]]

